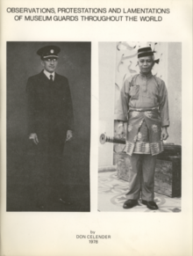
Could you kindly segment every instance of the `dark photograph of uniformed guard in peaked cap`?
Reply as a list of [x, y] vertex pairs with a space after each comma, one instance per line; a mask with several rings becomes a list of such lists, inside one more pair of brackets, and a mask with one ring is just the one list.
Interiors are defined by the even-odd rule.
[[90, 42], [7, 42], [7, 211], [89, 211]]

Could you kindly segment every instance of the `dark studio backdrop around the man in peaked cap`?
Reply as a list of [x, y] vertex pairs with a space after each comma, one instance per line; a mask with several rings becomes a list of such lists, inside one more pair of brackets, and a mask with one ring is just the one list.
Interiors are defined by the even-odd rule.
[[[7, 210], [33, 210], [29, 202], [27, 165], [26, 93], [28, 77], [43, 67], [37, 50], [61, 48], [56, 72], [68, 77], [72, 94], [75, 133], [64, 148], [65, 174], [76, 203], [73, 211], [89, 210], [90, 42], [7, 42]], [[60, 210], [53, 208], [53, 210]]]

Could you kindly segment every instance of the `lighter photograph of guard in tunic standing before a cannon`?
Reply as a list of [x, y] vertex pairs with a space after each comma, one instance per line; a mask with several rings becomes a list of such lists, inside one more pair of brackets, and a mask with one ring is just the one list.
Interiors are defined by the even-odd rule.
[[98, 210], [181, 212], [182, 43], [98, 48]]

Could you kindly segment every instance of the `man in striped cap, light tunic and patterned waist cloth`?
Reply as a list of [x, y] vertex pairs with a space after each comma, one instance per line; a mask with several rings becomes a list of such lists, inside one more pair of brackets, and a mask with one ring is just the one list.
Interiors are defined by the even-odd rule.
[[151, 48], [139, 48], [140, 73], [125, 80], [118, 100], [116, 120], [118, 133], [125, 133], [126, 148], [130, 158], [129, 191], [123, 208], [142, 203], [157, 209], [154, 202], [154, 170], [156, 156], [163, 151], [168, 138], [168, 92], [165, 83], [152, 75], [154, 52]]

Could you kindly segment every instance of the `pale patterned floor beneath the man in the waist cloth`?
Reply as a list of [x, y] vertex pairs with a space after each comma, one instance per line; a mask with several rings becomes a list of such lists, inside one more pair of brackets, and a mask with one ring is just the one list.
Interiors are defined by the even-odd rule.
[[128, 182], [117, 178], [117, 172], [98, 173], [98, 211], [117, 212], [181, 212], [181, 198], [171, 198], [155, 193], [154, 201], [158, 210], [150, 210], [140, 201], [130, 209], [123, 208]]

